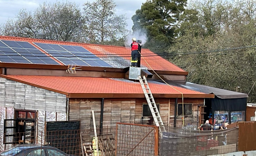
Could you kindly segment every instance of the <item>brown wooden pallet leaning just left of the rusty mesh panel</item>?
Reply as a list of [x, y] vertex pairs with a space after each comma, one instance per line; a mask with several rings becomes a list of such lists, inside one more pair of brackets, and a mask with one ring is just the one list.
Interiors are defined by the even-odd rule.
[[116, 143], [113, 134], [98, 135], [98, 141], [102, 156], [115, 156]]

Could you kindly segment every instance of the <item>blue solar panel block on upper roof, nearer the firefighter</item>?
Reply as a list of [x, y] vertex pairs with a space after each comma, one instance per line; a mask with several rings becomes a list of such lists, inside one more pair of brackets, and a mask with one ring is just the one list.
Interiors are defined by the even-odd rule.
[[[65, 65], [112, 67], [82, 46], [34, 43]], [[88, 58], [87, 58], [88, 57]]]

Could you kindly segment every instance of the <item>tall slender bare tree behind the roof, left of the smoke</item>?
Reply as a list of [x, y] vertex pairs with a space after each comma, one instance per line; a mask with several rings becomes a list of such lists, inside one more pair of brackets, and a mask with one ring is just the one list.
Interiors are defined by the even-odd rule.
[[113, 0], [96, 0], [84, 4], [85, 26], [92, 43], [104, 44], [123, 38], [127, 33], [126, 18], [115, 14], [116, 6]]

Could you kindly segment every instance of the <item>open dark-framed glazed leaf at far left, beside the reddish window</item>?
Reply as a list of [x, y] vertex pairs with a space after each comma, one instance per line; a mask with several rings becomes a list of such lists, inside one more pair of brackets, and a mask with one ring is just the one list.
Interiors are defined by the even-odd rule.
[[15, 144], [16, 119], [4, 119], [4, 144]]

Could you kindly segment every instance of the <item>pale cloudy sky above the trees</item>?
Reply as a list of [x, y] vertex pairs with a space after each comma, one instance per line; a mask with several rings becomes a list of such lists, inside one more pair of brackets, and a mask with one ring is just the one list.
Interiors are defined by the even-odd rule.
[[[33, 11], [39, 4], [43, 2], [66, 2], [63, 0], [0, 0], [0, 25], [5, 23], [6, 20], [15, 18], [19, 11], [25, 8], [27, 11]], [[80, 8], [83, 8], [83, 4], [87, 1], [93, 2], [94, 0], [68, 0], [69, 2], [75, 2]], [[114, 0], [118, 5], [116, 14], [125, 14], [127, 19], [127, 29], [131, 30], [133, 26], [132, 16], [137, 9], [140, 9], [142, 3], [146, 0]]]

